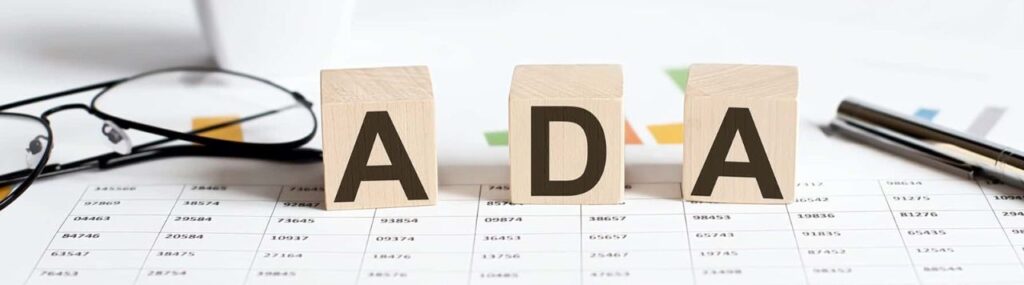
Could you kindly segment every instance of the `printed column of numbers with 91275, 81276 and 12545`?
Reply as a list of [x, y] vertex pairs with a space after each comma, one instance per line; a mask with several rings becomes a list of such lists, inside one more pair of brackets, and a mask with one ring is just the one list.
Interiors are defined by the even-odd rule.
[[881, 184], [922, 283], [1022, 281], [1020, 261], [974, 181]]

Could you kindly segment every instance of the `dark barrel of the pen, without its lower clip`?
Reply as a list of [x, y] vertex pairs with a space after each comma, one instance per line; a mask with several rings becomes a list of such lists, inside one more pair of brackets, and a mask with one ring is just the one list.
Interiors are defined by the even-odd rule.
[[989, 158], [995, 161], [996, 164], [1001, 163], [1018, 169], [1024, 169], [1024, 157], [1016, 150], [982, 138], [974, 138], [967, 133], [938, 126], [921, 119], [899, 115], [895, 112], [856, 99], [843, 100], [837, 112], [840, 119], [870, 124], [923, 141], [948, 144]]

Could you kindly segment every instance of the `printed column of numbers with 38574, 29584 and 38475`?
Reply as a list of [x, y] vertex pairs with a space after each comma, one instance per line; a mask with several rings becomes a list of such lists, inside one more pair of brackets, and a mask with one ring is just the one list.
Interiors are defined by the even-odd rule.
[[185, 186], [138, 284], [245, 282], [280, 193], [276, 186]]

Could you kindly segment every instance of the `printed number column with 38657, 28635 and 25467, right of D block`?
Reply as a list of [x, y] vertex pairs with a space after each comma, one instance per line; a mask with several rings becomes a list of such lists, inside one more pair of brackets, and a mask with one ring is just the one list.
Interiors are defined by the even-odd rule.
[[623, 203], [584, 205], [584, 283], [690, 284], [680, 198], [679, 185], [632, 185]]

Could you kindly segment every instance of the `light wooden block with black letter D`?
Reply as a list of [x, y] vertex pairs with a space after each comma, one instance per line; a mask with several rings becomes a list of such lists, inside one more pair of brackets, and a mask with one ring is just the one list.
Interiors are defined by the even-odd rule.
[[623, 200], [620, 66], [518, 66], [509, 93], [513, 203]]

